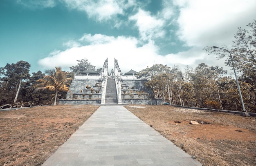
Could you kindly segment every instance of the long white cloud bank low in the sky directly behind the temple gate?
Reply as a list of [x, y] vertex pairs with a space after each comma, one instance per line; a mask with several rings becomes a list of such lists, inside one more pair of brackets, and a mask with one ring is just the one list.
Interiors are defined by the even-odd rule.
[[[152, 66], [155, 63], [193, 64], [198, 58], [185, 58], [186, 53], [168, 54], [165, 56], [157, 54], [158, 46], [151, 40], [147, 44], [138, 47], [138, 40], [132, 37], [101, 35], [101, 34], [85, 34], [79, 41], [90, 42], [88, 45], [73, 47], [65, 51], [54, 51], [47, 58], [39, 60], [43, 69], [51, 69], [54, 66], [61, 66], [65, 70], [69, 70], [70, 66], [76, 65], [76, 60], [87, 58], [91, 64], [97, 68], [102, 67], [104, 60], [108, 58], [109, 70], [114, 68], [114, 58], [119, 62], [119, 66], [123, 73], [133, 69], [140, 71], [146, 66]], [[101, 42], [99, 42], [101, 41]]]

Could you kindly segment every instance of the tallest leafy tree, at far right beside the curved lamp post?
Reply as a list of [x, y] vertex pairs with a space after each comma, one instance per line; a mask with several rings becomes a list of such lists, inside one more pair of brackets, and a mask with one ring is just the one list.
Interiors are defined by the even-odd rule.
[[[214, 53], [218, 58], [226, 58], [225, 64], [231, 66], [235, 71], [238, 71], [238, 81], [249, 83], [252, 89], [256, 88], [256, 20], [247, 24], [247, 29], [238, 28], [235, 35], [234, 45], [231, 49], [217, 46], [207, 46], [206, 52]], [[236, 73], [235, 73], [236, 75]], [[238, 84], [238, 83], [237, 83]], [[237, 87], [239, 90], [239, 86]], [[243, 91], [241, 91], [243, 96]], [[256, 92], [254, 91], [254, 95]], [[244, 98], [244, 96], [243, 96]], [[242, 97], [240, 98], [242, 100]], [[243, 99], [247, 100], [247, 99]], [[254, 101], [255, 103], [256, 101]], [[239, 104], [238, 104], [239, 105]], [[246, 110], [243, 108], [243, 111]]]

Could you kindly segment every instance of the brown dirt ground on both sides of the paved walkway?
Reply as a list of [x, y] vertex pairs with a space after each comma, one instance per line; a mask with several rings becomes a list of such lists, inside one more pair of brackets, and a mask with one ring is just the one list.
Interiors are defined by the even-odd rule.
[[[40, 166], [99, 108], [0, 111], [0, 166]], [[256, 118], [172, 106], [126, 108], [204, 166], [255, 166]], [[200, 124], [189, 124], [191, 120]]]

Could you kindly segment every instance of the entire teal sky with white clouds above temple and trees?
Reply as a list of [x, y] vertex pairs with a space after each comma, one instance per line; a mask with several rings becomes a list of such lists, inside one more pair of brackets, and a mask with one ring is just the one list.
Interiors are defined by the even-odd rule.
[[232, 45], [256, 19], [256, 0], [0, 0], [0, 67], [24, 60], [30, 72], [83, 58], [122, 73], [153, 64], [225, 66], [206, 46]]

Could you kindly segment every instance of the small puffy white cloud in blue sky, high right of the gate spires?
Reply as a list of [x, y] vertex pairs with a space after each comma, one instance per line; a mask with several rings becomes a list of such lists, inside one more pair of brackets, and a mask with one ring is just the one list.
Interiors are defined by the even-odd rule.
[[151, 40], [164, 37], [164, 20], [153, 17], [150, 12], [139, 9], [138, 13], [130, 16], [129, 20], [135, 20], [142, 40]]

